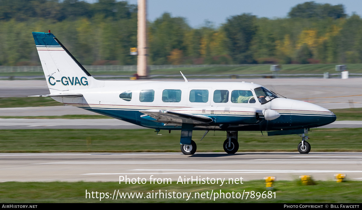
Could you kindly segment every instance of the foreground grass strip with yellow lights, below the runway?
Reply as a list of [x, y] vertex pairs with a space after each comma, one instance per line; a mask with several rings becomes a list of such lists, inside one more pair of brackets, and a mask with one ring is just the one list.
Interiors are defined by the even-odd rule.
[[[117, 178], [115, 176], [115, 178]], [[126, 192], [143, 193], [143, 197], [152, 191], [165, 193], [191, 193], [190, 199], [187, 198], [153, 198], [153, 199], [137, 199], [126, 198], [114, 200], [111, 198], [85, 198], [85, 190], [87, 192], [103, 192], [114, 194]], [[115, 182], [4, 182], [0, 183], [0, 202], [2, 203], [86, 203], [86, 202], [237, 202], [237, 203], [359, 203], [362, 200], [362, 181], [346, 181], [336, 183], [335, 181], [316, 181], [316, 185], [301, 185], [298, 180], [294, 181], [275, 181], [274, 189], [275, 198], [250, 198], [244, 193], [243, 200], [241, 198], [192, 198], [195, 193], [211, 191], [226, 193], [241, 193], [254, 191], [263, 193], [268, 189], [265, 188], [264, 180], [244, 181], [243, 184], [119, 184]], [[213, 193], [213, 196], [214, 196]], [[90, 194], [92, 195], [92, 194]], [[96, 196], [96, 194], [93, 194]], [[155, 194], [154, 194], [155, 195]], [[216, 194], [215, 194], [216, 195]], [[274, 195], [274, 194], [273, 194]], [[227, 194], [226, 194], [227, 196]], [[239, 196], [239, 195], [238, 195]], [[99, 194], [98, 194], [99, 197]], [[113, 196], [112, 196], [113, 197]], [[219, 196], [220, 197], [220, 196]]]

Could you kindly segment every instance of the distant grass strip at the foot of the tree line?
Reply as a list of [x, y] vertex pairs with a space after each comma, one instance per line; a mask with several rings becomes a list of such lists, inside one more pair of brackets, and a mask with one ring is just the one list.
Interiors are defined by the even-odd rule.
[[[335, 70], [337, 64], [286, 64], [282, 65], [280, 74], [323, 74], [325, 72], [338, 73]], [[362, 64], [347, 64], [350, 73], [362, 73]], [[174, 75], [180, 71], [187, 75], [192, 74], [271, 74], [270, 65], [245, 65], [245, 66], [215, 66], [215, 67], [192, 67], [152, 70], [150, 75]], [[92, 75], [132, 75], [135, 71], [96, 71]], [[0, 73], [0, 76], [37, 76], [43, 72], [10, 72]]]

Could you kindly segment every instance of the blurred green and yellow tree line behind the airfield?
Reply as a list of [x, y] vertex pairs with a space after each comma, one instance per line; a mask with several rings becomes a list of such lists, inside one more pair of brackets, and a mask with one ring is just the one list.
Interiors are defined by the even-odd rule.
[[[0, 65], [39, 65], [31, 31], [51, 30], [84, 65], [135, 65], [137, 6], [127, 1], [0, 0]], [[313, 1], [286, 18], [244, 13], [190, 27], [164, 13], [148, 23], [149, 61], [164, 64], [361, 63], [362, 19]]]

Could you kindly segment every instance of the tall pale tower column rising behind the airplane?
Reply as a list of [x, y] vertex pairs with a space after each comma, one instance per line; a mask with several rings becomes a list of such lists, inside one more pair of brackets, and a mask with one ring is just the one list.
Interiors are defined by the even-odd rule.
[[137, 74], [147, 77], [147, 9], [146, 0], [138, 0], [138, 21], [137, 21]]

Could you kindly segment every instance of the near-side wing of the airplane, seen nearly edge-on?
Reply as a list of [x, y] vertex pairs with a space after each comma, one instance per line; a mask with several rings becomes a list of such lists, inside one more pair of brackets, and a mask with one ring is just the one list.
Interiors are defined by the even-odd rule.
[[212, 118], [203, 115], [185, 114], [167, 110], [144, 110], [140, 112], [145, 114], [141, 115], [142, 118], [151, 117], [154, 119], [153, 121], [165, 124], [206, 124], [214, 121]]

